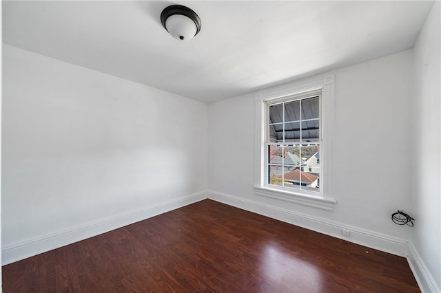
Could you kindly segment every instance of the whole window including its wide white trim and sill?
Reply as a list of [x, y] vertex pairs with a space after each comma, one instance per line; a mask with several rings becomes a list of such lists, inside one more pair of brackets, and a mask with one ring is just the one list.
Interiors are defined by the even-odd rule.
[[332, 210], [334, 75], [256, 94], [256, 195]]

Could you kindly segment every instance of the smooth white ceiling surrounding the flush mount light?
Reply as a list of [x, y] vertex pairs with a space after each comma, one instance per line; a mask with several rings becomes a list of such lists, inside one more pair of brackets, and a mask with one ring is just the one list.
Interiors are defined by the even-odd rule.
[[[161, 26], [183, 4], [188, 42]], [[202, 102], [413, 47], [433, 1], [3, 1], [3, 43]]]

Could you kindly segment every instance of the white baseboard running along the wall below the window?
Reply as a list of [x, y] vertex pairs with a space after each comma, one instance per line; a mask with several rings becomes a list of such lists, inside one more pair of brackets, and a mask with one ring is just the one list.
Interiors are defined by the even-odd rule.
[[[243, 210], [248, 210], [259, 215], [285, 221], [302, 228], [314, 230], [325, 235], [344, 239], [349, 242], [357, 243], [376, 250], [396, 254], [400, 257], [407, 257], [407, 241], [404, 239], [391, 237], [382, 233], [365, 230], [354, 226], [348, 226], [336, 221], [330, 221], [320, 217], [296, 213], [291, 210], [278, 208], [255, 202], [249, 199], [243, 199], [234, 195], [218, 193], [216, 191], [208, 191], [208, 198], [217, 202], [222, 202], [230, 206], [236, 206]], [[342, 230], [349, 230], [349, 236], [342, 235]]]

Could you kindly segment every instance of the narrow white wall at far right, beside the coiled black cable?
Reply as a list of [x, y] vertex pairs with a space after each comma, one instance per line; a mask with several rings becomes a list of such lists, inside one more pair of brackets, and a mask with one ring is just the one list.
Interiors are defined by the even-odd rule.
[[440, 6], [435, 1], [414, 47], [415, 128], [411, 133], [414, 142], [411, 170], [416, 228], [412, 230], [411, 243], [416, 250], [412, 261], [423, 267], [421, 279], [433, 280], [425, 285], [427, 292], [440, 292], [441, 288]]

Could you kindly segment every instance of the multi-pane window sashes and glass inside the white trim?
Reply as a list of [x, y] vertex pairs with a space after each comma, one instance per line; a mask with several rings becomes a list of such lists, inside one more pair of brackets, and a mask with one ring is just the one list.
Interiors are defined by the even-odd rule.
[[320, 192], [320, 97], [321, 89], [265, 102], [265, 186]]

